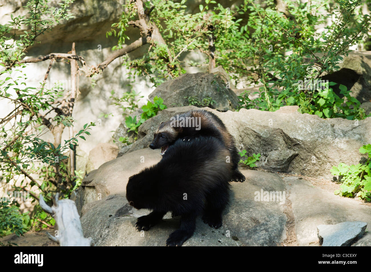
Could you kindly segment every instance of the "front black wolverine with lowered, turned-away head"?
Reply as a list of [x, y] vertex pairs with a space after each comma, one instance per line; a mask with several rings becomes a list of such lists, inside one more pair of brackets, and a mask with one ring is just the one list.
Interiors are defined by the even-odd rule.
[[229, 204], [232, 164], [229, 150], [216, 137], [178, 139], [168, 147], [161, 161], [129, 177], [126, 198], [136, 209], [150, 209], [135, 223], [138, 231], [149, 230], [167, 212], [180, 217], [180, 228], [170, 234], [167, 246], [181, 246], [196, 228], [196, 217], [219, 228]]

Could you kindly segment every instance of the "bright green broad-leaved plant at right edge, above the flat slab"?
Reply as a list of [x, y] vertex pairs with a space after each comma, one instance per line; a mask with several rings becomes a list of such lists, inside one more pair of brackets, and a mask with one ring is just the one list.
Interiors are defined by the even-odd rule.
[[365, 163], [348, 166], [340, 163], [338, 167], [333, 166], [331, 173], [339, 176], [342, 181], [340, 190], [334, 193], [345, 197], [358, 196], [359, 199], [371, 200], [371, 144], [359, 148], [359, 153], [367, 154]]

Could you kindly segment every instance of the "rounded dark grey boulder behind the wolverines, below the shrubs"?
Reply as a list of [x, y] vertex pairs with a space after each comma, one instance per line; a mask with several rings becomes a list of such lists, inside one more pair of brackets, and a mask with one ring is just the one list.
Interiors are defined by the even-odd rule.
[[148, 98], [153, 100], [155, 96], [161, 97], [165, 105], [172, 107], [189, 105], [185, 97], [195, 96], [197, 101], [211, 97], [216, 102], [211, 105], [212, 108], [219, 111], [236, 110], [239, 99], [230, 88], [226, 88], [228, 81], [221, 72], [185, 73], [162, 83]]

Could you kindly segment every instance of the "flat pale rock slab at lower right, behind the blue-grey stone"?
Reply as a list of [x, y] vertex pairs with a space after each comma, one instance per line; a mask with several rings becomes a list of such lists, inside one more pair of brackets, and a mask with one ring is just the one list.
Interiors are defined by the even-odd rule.
[[[346, 221], [362, 221], [370, 225], [370, 204], [337, 196], [333, 190], [316, 187], [310, 181], [298, 177], [283, 179], [287, 185], [286, 190], [290, 193], [299, 246], [316, 245], [318, 225], [334, 225]], [[371, 246], [370, 238], [361, 240], [362, 245]]]

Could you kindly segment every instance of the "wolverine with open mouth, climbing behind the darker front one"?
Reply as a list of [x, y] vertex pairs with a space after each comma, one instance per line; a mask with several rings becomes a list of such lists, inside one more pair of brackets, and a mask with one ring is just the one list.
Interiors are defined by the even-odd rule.
[[203, 109], [191, 110], [172, 117], [170, 121], [161, 122], [154, 133], [150, 148], [161, 148], [161, 155], [164, 155], [167, 148], [177, 139], [188, 141], [199, 136], [211, 136], [223, 142], [229, 150], [232, 162], [231, 180], [243, 182], [245, 177], [238, 170], [240, 155], [237, 152], [235, 140], [220, 118], [212, 112]]

